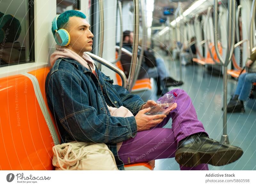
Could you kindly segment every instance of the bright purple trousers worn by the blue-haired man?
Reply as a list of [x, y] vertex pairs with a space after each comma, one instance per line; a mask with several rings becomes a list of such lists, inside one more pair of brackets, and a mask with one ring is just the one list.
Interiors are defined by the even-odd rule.
[[[154, 159], [173, 158], [177, 144], [185, 137], [205, 132], [203, 124], [197, 120], [196, 110], [188, 94], [181, 89], [176, 92], [177, 108], [156, 127], [140, 131], [134, 138], [125, 140], [118, 151], [118, 157], [127, 163], [138, 163]], [[162, 128], [172, 118], [172, 128]], [[196, 167], [180, 166], [180, 170], [209, 170], [207, 164]]]

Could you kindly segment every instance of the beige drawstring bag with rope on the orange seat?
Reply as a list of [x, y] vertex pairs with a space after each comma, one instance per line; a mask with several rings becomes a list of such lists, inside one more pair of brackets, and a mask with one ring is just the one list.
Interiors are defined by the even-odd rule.
[[105, 143], [70, 142], [52, 147], [55, 170], [118, 170]]

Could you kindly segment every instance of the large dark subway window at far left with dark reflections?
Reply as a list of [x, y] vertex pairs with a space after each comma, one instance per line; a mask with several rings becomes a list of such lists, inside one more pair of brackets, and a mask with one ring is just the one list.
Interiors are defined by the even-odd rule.
[[0, 67], [34, 62], [34, 1], [1, 1]]

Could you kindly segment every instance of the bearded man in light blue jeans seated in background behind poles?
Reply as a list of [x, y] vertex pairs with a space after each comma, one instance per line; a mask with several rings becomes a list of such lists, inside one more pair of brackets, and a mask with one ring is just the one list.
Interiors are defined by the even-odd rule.
[[[126, 30], [124, 31], [124, 37], [123, 37], [123, 48], [126, 50], [129, 50], [132, 52], [132, 44], [133, 44], [133, 32]], [[138, 51], [138, 57], [140, 56], [140, 50]], [[130, 71], [131, 61], [123, 61], [121, 57], [121, 63], [123, 65], [124, 71], [128, 72]], [[164, 64], [164, 61], [161, 58], [158, 58], [156, 60], [156, 66], [155, 67], [149, 67], [147, 63], [145, 62], [145, 59], [142, 60], [142, 64], [140, 67], [140, 72], [138, 79], [143, 78], [157, 78], [160, 77], [160, 80], [163, 82], [163, 84], [166, 87], [170, 86], [180, 86], [183, 84], [182, 81], [177, 81], [172, 79], [169, 76], [169, 72]]]

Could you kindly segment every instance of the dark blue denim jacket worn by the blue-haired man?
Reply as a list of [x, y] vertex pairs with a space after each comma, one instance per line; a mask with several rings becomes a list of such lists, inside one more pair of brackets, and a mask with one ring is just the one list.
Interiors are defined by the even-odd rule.
[[[135, 115], [144, 101], [128, 90], [113, 85], [113, 80], [98, 68], [98, 78], [74, 59], [59, 58], [47, 74], [45, 91], [53, 113], [61, 143], [84, 141], [106, 143], [113, 152], [119, 170], [124, 170], [118, 158], [116, 143], [137, 134]], [[113, 117], [107, 105], [129, 109], [132, 117]]]

